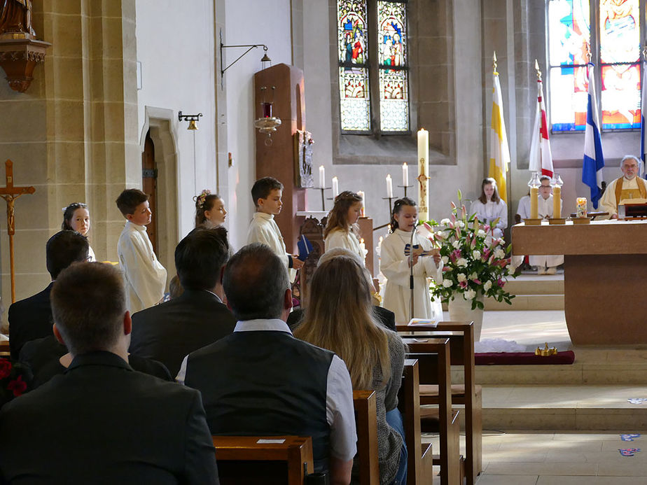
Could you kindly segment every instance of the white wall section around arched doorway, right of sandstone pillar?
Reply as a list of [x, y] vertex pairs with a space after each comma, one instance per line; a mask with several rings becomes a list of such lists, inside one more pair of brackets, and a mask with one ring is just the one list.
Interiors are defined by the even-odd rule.
[[[216, 191], [213, 1], [137, 0], [136, 6], [137, 60], [142, 73], [137, 97], [139, 134], [142, 140], [146, 136], [145, 106], [174, 111], [179, 237], [183, 237], [194, 225], [193, 196], [204, 188]], [[195, 132], [195, 165], [193, 132], [186, 129], [188, 122], [177, 120], [178, 111], [203, 114]]]

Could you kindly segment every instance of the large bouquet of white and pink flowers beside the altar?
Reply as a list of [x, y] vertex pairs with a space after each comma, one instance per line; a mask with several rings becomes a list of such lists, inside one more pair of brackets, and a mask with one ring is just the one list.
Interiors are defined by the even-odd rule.
[[461, 295], [472, 301], [472, 309], [483, 309], [483, 302], [478, 298], [481, 295], [511, 304], [514, 295], [503, 290], [506, 277], [512, 276], [507, 258], [510, 246], [505, 248], [503, 239], [493, 237], [496, 221], [482, 225], [476, 215], [468, 217], [460, 191], [458, 197], [460, 210], [452, 202], [450, 218], [441, 220], [440, 224], [431, 221], [431, 225], [440, 229], [430, 239], [440, 247], [444, 265], [443, 282], [433, 286], [431, 292], [443, 303]]

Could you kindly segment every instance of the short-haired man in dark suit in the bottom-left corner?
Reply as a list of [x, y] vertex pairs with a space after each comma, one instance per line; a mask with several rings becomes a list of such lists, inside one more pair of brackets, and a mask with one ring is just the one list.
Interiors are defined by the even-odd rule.
[[54, 335], [73, 360], [0, 412], [0, 482], [218, 484], [200, 393], [127, 364], [118, 269], [72, 265], [51, 299]]

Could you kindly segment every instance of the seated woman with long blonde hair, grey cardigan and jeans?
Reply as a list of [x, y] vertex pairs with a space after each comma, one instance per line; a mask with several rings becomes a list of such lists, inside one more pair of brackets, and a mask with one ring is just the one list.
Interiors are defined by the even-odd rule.
[[[380, 483], [405, 483], [407, 450], [398, 411], [405, 347], [396, 332], [375, 320], [370, 286], [359, 262], [338, 256], [317, 267], [294, 335], [340, 356], [354, 389], [376, 392]], [[356, 467], [353, 471], [356, 476]]]

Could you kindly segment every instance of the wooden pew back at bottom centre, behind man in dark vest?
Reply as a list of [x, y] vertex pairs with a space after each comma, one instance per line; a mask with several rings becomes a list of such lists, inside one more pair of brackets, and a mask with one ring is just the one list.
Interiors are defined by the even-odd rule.
[[[216, 448], [221, 485], [258, 483], [302, 485], [305, 476], [314, 472], [311, 437], [214, 436], [212, 438]], [[263, 440], [272, 442], [263, 443]], [[277, 442], [280, 440], [283, 442]]]

